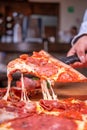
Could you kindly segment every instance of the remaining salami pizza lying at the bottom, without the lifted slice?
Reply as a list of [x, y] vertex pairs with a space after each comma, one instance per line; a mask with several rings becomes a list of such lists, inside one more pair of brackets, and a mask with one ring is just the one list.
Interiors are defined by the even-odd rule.
[[0, 130], [87, 130], [87, 102], [62, 100], [21, 101], [20, 90], [0, 90]]

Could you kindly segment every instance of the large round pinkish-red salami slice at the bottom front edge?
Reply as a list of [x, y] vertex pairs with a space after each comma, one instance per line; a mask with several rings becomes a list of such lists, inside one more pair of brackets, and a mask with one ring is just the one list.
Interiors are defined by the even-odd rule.
[[11, 127], [15, 130], [77, 130], [73, 120], [45, 114], [13, 120]]

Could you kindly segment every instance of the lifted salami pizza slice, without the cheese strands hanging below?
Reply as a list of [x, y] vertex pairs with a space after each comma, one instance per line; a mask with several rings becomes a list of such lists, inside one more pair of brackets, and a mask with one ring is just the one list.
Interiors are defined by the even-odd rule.
[[11, 75], [20, 71], [46, 79], [51, 83], [58, 82], [74, 82], [86, 79], [84, 75], [77, 72], [71, 66], [64, 64], [58, 59], [53, 58], [45, 51], [33, 52], [32, 56], [26, 54], [11, 61], [7, 66], [7, 75]]

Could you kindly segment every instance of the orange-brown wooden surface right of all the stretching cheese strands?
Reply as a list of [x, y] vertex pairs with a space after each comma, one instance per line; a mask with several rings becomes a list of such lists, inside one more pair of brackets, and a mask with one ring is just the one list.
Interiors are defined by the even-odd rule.
[[54, 88], [58, 98], [77, 98], [87, 100], [87, 82], [59, 83]]

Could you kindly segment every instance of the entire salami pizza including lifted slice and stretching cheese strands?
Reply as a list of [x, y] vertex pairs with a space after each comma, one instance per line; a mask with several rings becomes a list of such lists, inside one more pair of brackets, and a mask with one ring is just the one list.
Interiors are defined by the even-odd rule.
[[[15, 72], [21, 78], [12, 87]], [[9, 62], [7, 76], [7, 88], [0, 89], [0, 130], [87, 130], [87, 101], [60, 100], [54, 92], [55, 82], [87, 80], [71, 66], [42, 50]], [[32, 100], [38, 89], [42, 98]]]

